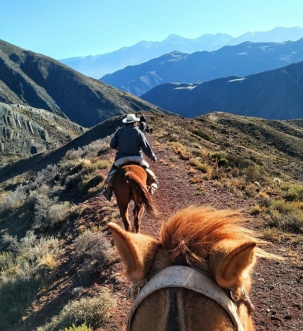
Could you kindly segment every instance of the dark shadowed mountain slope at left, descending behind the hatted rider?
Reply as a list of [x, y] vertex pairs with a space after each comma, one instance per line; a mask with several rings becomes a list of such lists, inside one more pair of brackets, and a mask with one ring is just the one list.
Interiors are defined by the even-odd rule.
[[46, 109], [84, 126], [155, 109], [52, 58], [0, 40], [0, 102]]

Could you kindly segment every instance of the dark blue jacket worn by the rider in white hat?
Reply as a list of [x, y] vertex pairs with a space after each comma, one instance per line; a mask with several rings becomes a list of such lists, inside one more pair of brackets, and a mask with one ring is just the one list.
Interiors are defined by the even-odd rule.
[[151, 160], [157, 160], [144, 134], [133, 124], [120, 128], [112, 138], [110, 146], [118, 149], [115, 161], [125, 156], [143, 157], [142, 151]]

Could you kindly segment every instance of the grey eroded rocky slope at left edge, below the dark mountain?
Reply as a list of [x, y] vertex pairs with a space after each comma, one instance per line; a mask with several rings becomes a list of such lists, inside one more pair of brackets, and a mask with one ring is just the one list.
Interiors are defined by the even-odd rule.
[[44, 109], [0, 102], [0, 167], [58, 148], [83, 132], [76, 123]]

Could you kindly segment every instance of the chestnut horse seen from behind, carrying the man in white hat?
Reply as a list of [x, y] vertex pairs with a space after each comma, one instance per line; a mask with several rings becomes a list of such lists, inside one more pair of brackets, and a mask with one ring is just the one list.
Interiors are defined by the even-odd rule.
[[151, 216], [157, 216], [158, 212], [146, 186], [146, 178], [145, 170], [137, 164], [125, 164], [118, 168], [114, 175], [114, 193], [126, 231], [131, 229], [128, 218], [128, 204], [131, 200], [134, 201], [133, 215], [136, 232], [140, 231], [141, 218], [145, 209]]

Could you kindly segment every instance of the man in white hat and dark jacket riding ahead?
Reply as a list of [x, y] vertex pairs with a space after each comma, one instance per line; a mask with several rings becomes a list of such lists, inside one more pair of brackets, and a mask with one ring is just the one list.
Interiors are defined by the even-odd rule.
[[[136, 124], [140, 119], [136, 118], [135, 114], [128, 114], [125, 119], [122, 120], [124, 126], [118, 129], [110, 142], [110, 146], [117, 149], [118, 152], [115, 157], [115, 163], [111, 168], [108, 178], [106, 180], [107, 188], [103, 191], [103, 195], [108, 201], [111, 201], [113, 195], [113, 183], [111, 179], [116, 169], [122, 166], [122, 164], [136, 161], [143, 168], [148, 168], [148, 163], [143, 159], [142, 152], [148, 156], [151, 160], [157, 161], [157, 157], [150, 145], [148, 144], [144, 134], [137, 128]], [[148, 179], [151, 182], [149, 192], [154, 194], [158, 188], [156, 176], [149, 169], [145, 169], [150, 175]]]

